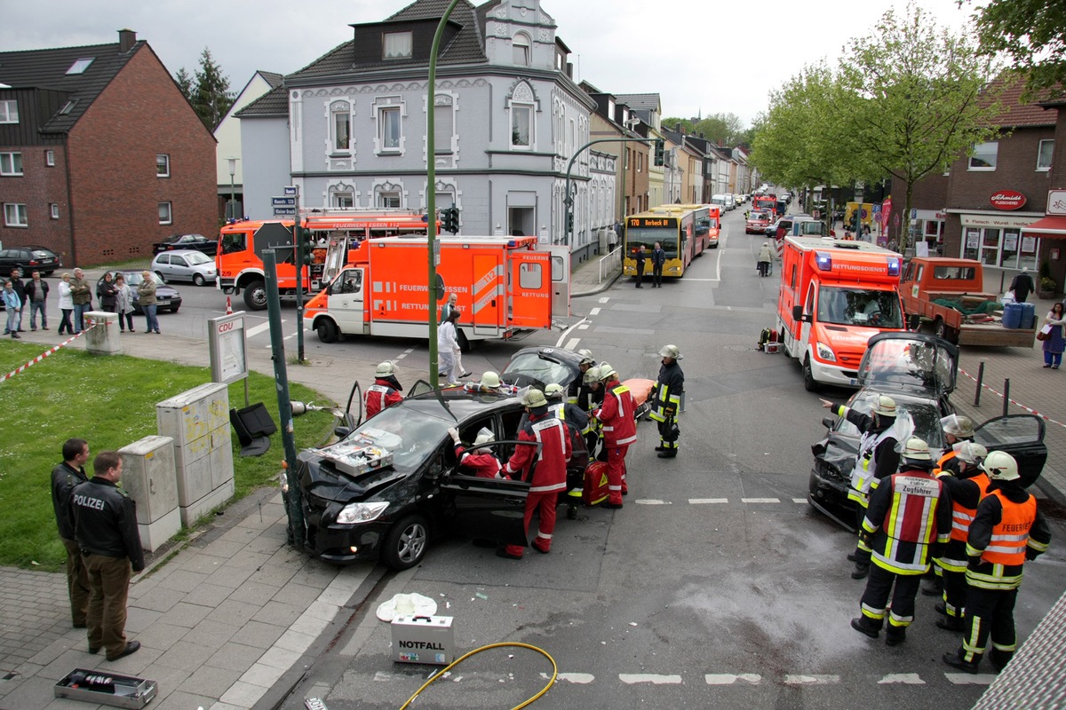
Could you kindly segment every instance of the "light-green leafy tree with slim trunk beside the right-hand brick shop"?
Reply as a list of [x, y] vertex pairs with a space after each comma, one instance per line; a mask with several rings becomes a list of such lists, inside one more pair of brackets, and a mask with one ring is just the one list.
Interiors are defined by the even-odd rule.
[[[914, 3], [903, 19], [886, 12], [840, 61], [840, 84], [858, 100], [836, 112], [842, 125], [837, 134], [855, 159], [852, 177], [899, 179], [902, 214], [909, 215], [915, 183], [943, 172], [997, 132], [1002, 83], [991, 84], [994, 70], [994, 60], [975, 44], [938, 28]], [[906, 230], [900, 234], [901, 251], [907, 236]]]

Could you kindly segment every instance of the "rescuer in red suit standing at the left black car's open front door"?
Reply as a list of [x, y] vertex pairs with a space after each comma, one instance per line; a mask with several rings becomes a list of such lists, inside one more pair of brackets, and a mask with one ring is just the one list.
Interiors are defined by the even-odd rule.
[[[566, 425], [548, 411], [548, 400], [543, 392], [528, 390], [522, 395], [521, 402], [529, 414], [529, 422], [518, 432], [518, 441], [540, 444], [536, 469], [530, 481], [530, 492], [526, 496], [526, 530], [529, 531], [533, 511], [537, 510], [540, 524], [536, 540], [533, 541], [533, 549], [547, 555], [551, 551], [551, 535], [555, 530], [555, 499], [560, 492], [566, 490], [566, 462], [570, 460], [572, 448]], [[524, 479], [534, 456], [537, 456], [535, 446], [515, 446], [511, 460], [503, 466], [504, 475], [514, 478], [515, 474], [521, 472], [521, 478]], [[507, 545], [497, 549], [496, 554], [520, 560], [522, 551], [520, 545]]]

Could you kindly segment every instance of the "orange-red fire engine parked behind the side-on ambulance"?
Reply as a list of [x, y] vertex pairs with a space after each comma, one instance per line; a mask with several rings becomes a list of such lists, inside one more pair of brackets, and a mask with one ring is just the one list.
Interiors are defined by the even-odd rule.
[[[300, 269], [305, 298], [317, 294], [329, 281], [325, 257], [332, 242], [343, 238], [355, 248], [364, 240], [426, 233], [425, 216], [418, 210], [316, 209], [302, 213], [301, 226], [310, 231], [308, 248], [311, 252], [310, 265]], [[215, 255], [219, 288], [235, 296], [243, 291], [244, 303], [249, 310], [265, 309], [262, 251], [291, 247], [287, 251], [277, 252], [277, 285], [282, 298], [295, 296], [296, 250], [292, 241], [293, 224], [292, 219], [244, 220], [223, 227]], [[439, 232], [439, 221], [437, 225]]]

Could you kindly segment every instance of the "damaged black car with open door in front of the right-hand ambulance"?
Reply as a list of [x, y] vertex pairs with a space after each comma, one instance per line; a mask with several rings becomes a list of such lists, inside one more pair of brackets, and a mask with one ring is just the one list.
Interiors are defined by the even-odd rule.
[[[898, 419], [909, 420], [938, 459], [946, 449], [941, 417], [954, 413], [949, 395], [955, 389], [958, 349], [935, 335], [888, 332], [870, 339], [859, 363], [860, 390], [847, 407], [869, 414], [878, 395], [895, 400]], [[855, 501], [847, 498], [861, 432], [843, 417], [822, 419], [826, 435], [811, 447], [814, 462], [807, 500], [849, 530], [856, 525]], [[1025, 484], [1040, 475], [1047, 460], [1045, 425], [1032, 414], [996, 417], [974, 427], [974, 440], [988, 450], [1004, 450], [1018, 461]]]

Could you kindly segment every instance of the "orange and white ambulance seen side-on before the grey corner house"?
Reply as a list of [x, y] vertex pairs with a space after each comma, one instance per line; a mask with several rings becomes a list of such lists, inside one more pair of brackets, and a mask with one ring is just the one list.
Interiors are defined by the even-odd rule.
[[[458, 297], [461, 343], [510, 339], [519, 331], [552, 327], [552, 304], [568, 312], [568, 282], [553, 285], [553, 252], [535, 236], [439, 236], [437, 294], [433, 313], [426, 285], [424, 234], [330, 241], [325, 288], [304, 307], [304, 325], [323, 343], [342, 335], [427, 337], [429, 319], [451, 294]], [[565, 248], [565, 247], [564, 247]], [[564, 277], [568, 278], [565, 268]], [[561, 303], [565, 299], [565, 303]], [[562, 308], [561, 308], [562, 307]]]

